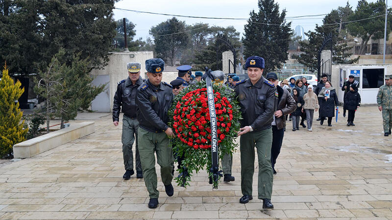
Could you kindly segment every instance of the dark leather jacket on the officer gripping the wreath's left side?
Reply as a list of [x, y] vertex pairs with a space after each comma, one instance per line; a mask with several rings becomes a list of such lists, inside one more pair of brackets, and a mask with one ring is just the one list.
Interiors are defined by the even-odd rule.
[[153, 86], [149, 80], [143, 83], [136, 95], [139, 127], [149, 132], [164, 132], [168, 128], [168, 110], [173, 97], [172, 86], [165, 82], [158, 87]]

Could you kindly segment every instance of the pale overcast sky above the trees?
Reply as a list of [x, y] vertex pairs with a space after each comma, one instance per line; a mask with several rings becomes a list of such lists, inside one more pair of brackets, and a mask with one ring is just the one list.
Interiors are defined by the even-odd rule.
[[[375, 1], [375, 0], [368, 0]], [[224, 17], [224, 18], [248, 18], [251, 10], [258, 11], [257, 0], [121, 0], [116, 2], [116, 8], [132, 9], [138, 11], [148, 11], [155, 13], [202, 16], [202, 17]], [[339, 6], [345, 6], [347, 0], [275, 0], [279, 4], [279, 9], [286, 9], [286, 17], [302, 15], [327, 14]], [[358, 0], [348, 0], [353, 10], [356, 8]], [[305, 32], [314, 30], [316, 23], [322, 23], [322, 18], [307, 19], [287, 19], [292, 21], [292, 29], [301, 25]], [[129, 11], [114, 10], [114, 19], [119, 20], [127, 18], [136, 24], [136, 38], [142, 37], [144, 40], [151, 37], [148, 30], [160, 22], [164, 22], [171, 16], [151, 15], [145, 13], [136, 13]], [[237, 20], [212, 20], [212, 19], [195, 19], [178, 17], [180, 21], [187, 24], [197, 22], [208, 23], [210, 26], [229, 26], [233, 25], [237, 31], [244, 32], [246, 21]]]

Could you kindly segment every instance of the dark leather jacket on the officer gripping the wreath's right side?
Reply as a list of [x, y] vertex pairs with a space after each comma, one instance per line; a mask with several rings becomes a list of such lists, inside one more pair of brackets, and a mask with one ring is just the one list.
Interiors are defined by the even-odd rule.
[[278, 93], [275, 86], [261, 77], [252, 85], [250, 79], [237, 82], [235, 92], [240, 102], [243, 119], [241, 127], [252, 126], [254, 131], [271, 128], [273, 114], [278, 105]]

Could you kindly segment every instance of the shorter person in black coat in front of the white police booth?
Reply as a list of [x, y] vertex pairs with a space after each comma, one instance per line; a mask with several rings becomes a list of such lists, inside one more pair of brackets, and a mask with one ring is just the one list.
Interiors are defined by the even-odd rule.
[[355, 126], [355, 110], [361, 105], [361, 96], [355, 84], [351, 84], [349, 88], [350, 90], [344, 96], [344, 109], [348, 110], [347, 126]]

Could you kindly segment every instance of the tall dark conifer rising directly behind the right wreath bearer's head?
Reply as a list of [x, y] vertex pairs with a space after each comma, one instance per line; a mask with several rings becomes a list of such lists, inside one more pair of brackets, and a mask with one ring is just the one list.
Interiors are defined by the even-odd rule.
[[259, 0], [259, 12], [250, 12], [244, 27], [244, 55], [265, 58], [265, 72], [280, 68], [288, 59], [288, 49], [292, 30], [291, 22], [286, 22], [286, 9], [279, 13], [279, 5], [274, 0]]

